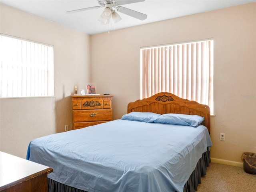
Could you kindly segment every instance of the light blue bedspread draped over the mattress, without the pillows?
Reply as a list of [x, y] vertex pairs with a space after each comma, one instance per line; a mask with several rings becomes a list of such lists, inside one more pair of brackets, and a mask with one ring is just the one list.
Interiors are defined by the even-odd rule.
[[208, 146], [202, 125], [120, 119], [32, 140], [27, 158], [88, 192], [182, 192]]

